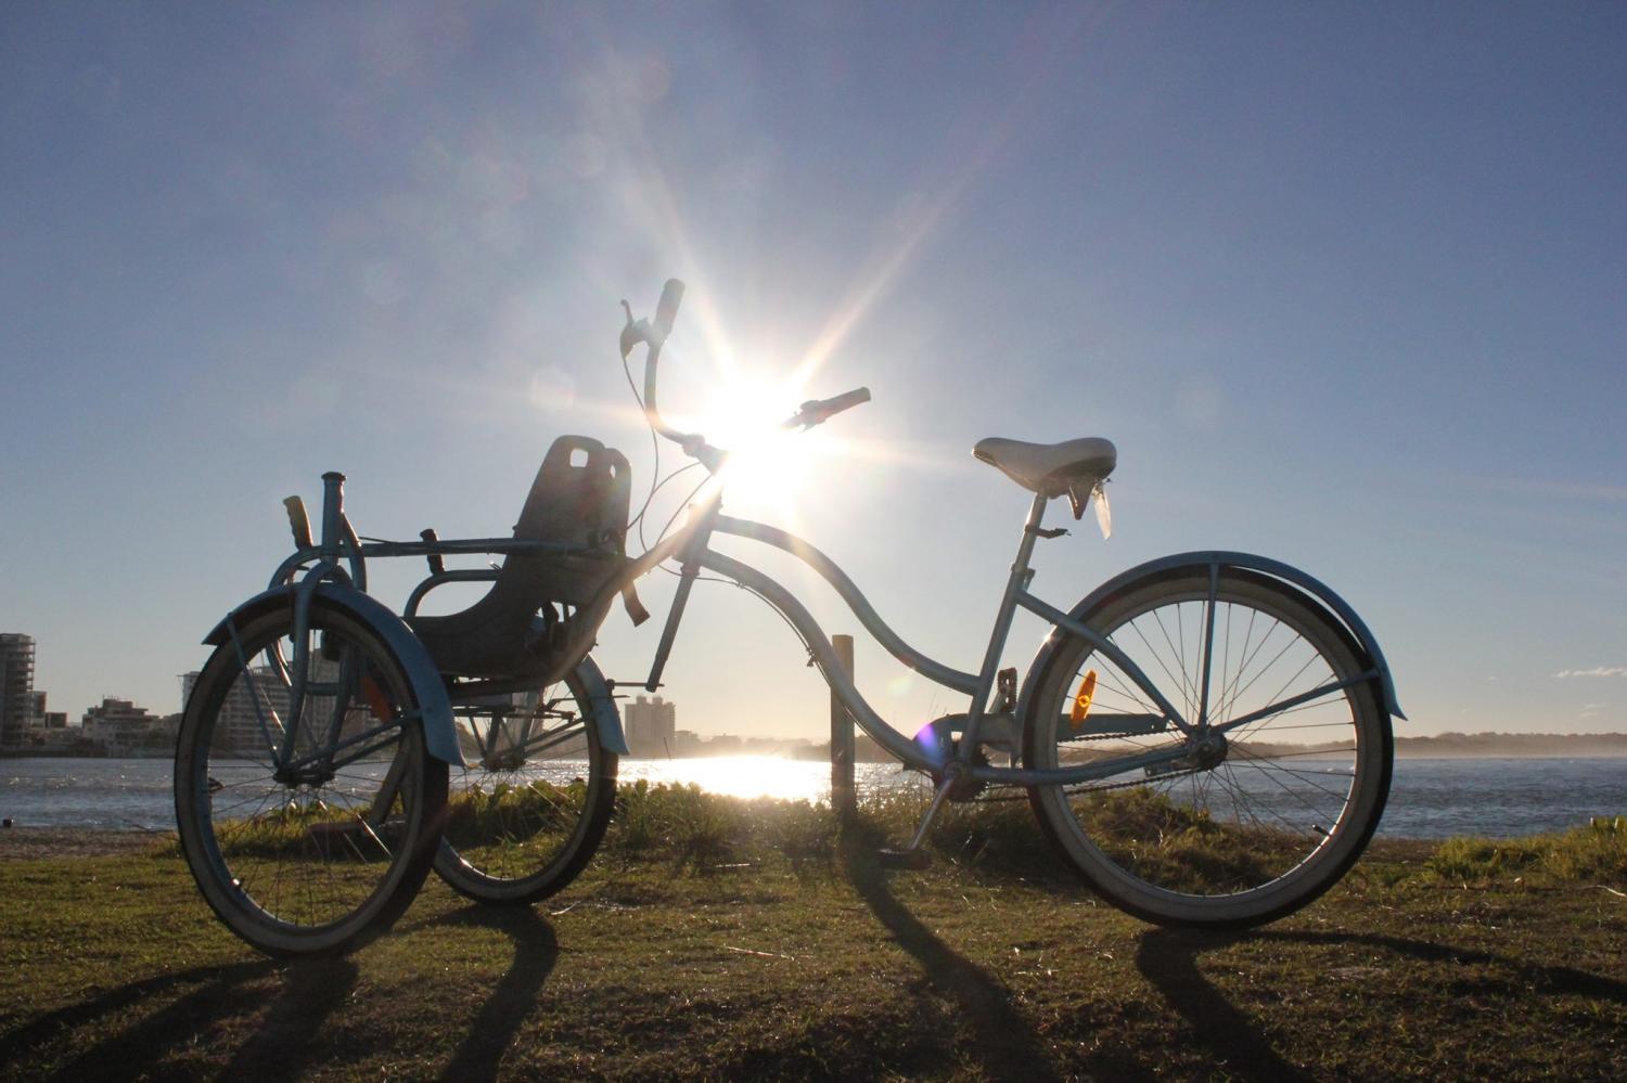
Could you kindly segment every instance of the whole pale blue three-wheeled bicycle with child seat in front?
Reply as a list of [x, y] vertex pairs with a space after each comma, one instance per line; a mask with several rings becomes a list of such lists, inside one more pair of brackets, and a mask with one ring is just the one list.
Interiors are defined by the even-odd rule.
[[[1028, 590], [1036, 545], [1066, 533], [1043, 525], [1045, 511], [1066, 496], [1075, 519], [1092, 502], [1103, 514], [1116, 449], [986, 439], [973, 454], [1033, 496], [981, 665], [937, 662], [817, 548], [722, 512], [729, 452], [670, 428], [657, 407], [682, 296], [667, 281], [652, 320], [623, 301], [622, 359], [644, 346], [649, 426], [708, 475], [685, 524], [643, 555], [625, 551], [626, 459], [589, 437], [548, 450], [513, 538], [361, 540], [338, 473], [324, 475], [317, 540], [303, 502], [285, 501], [294, 553], [205, 637], [215, 650], [176, 751], [182, 850], [233, 932], [272, 955], [351, 950], [389, 929], [431, 867], [490, 904], [571, 883], [604, 839], [626, 755], [615, 686], [589, 649], [618, 597], [635, 623], [648, 618], [635, 582], [669, 561], [678, 584], [643, 686], [661, 685], [701, 572], [761, 597], [859, 729], [932, 781], [913, 839], [882, 850], [887, 863], [919, 867], [944, 803], [991, 789], [1025, 795], [1095, 891], [1157, 924], [1264, 924], [1360, 857], [1389, 792], [1391, 717], [1406, 715], [1376, 641], [1339, 595], [1279, 561], [1201, 551], [1056, 608]], [[784, 428], [869, 398], [861, 387], [805, 402]], [[895, 659], [968, 696], [968, 709], [913, 737], [888, 725], [800, 602], [713, 550], [718, 533], [802, 559]], [[449, 571], [447, 555], [504, 563]], [[366, 594], [366, 561], [405, 556], [426, 558], [430, 576], [397, 615]], [[491, 585], [459, 613], [418, 615], [449, 582]], [[1051, 624], [1020, 685], [999, 668], [1019, 608]]]

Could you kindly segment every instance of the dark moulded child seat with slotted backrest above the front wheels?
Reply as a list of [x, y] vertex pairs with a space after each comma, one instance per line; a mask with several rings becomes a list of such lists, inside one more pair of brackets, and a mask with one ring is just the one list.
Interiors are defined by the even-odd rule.
[[[573, 462], [574, 460], [574, 462]], [[626, 457], [587, 436], [548, 449], [514, 537], [563, 542], [566, 553], [511, 553], [483, 598], [460, 613], [408, 616], [443, 673], [522, 676], [547, 667], [558, 605], [584, 605], [623, 564], [633, 473]], [[550, 620], [539, 620], [548, 607]]]

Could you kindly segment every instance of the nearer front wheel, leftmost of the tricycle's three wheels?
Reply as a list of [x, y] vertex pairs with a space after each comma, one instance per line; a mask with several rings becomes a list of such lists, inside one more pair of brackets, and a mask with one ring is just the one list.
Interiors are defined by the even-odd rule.
[[389, 646], [312, 598], [234, 629], [187, 691], [176, 823], [215, 914], [277, 956], [347, 951], [423, 885], [446, 805]]

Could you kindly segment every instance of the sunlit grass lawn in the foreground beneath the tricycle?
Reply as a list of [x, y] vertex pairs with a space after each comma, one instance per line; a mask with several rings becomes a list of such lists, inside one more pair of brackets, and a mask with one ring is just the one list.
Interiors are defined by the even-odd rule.
[[345, 959], [260, 959], [171, 847], [0, 862], [0, 1078], [1624, 1078], [1627, 829], [1376, 844], [1264, 930], [1147, 927], [1027, 807], [623, 789], [519, 911], [431, 878]]

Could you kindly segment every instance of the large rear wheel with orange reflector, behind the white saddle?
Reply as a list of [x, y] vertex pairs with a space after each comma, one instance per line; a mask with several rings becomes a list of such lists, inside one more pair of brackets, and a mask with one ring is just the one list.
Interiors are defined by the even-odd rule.
[[1038, 675], [1025, 763], [1180, 755], [1030, 790], [1056, 849], [1114, 906], [1165, 925], [1256, 925], [1333, 886], [1378, 824], [1393, 756], [1389, 715], [1344, 626], [1228, 566], [1214, 585], [1207, 568], [1131, 584], [1084, 623], [1183, 717], [1207, 717], [1210, 735], [1167, 727], [1119, 665], [1067, 637]]

